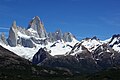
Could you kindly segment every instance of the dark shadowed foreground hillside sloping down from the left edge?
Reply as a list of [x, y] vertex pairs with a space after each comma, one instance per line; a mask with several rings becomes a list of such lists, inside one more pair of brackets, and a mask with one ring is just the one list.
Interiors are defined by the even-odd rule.
[[[32, 65], [32, 63], [0, 46], [0, 79], [31, 80], [49, 79], [51, 76], [70, 76], [71, 72]], [[45, 78], [47, 77], [47, 78]]]

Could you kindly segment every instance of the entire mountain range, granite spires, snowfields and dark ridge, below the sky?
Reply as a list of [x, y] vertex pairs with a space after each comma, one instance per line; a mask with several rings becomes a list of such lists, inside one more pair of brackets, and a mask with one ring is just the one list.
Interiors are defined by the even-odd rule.
[[96, 36], [78, 41], [70, 32], [47, 32], [38, 16], [26, 29], [14, 21], [8, 38], [1, 34], [0, 45], [32, 64], [73, 73], [94, 73], [120, 65], [120, 34], [104, 41]]

